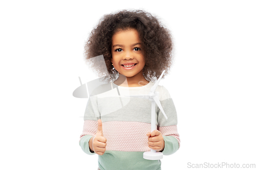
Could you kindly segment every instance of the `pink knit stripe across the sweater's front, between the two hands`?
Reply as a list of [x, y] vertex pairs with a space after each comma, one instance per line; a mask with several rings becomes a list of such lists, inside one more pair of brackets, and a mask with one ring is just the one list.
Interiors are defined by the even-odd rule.
[[139, 122], [105, 122], [102, 124], [106, 138], [106, 150], [144, 152], [148, 147], [147, 132], [151, 132], [151, 124]]

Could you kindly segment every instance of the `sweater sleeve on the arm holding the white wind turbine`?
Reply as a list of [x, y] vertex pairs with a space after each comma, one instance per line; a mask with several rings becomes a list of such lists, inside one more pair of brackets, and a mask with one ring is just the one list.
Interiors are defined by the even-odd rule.
[[160, 103], [168, 119], [165, 119], [162, 111], [158, 108], [158, 130], [162, 133], [165, 142], [162, 153], [170, 155], [180, 148], [180, 137], [177, 131], [177, 112], [168, 90], [162, 86], [160, 94], [162, 94]]

